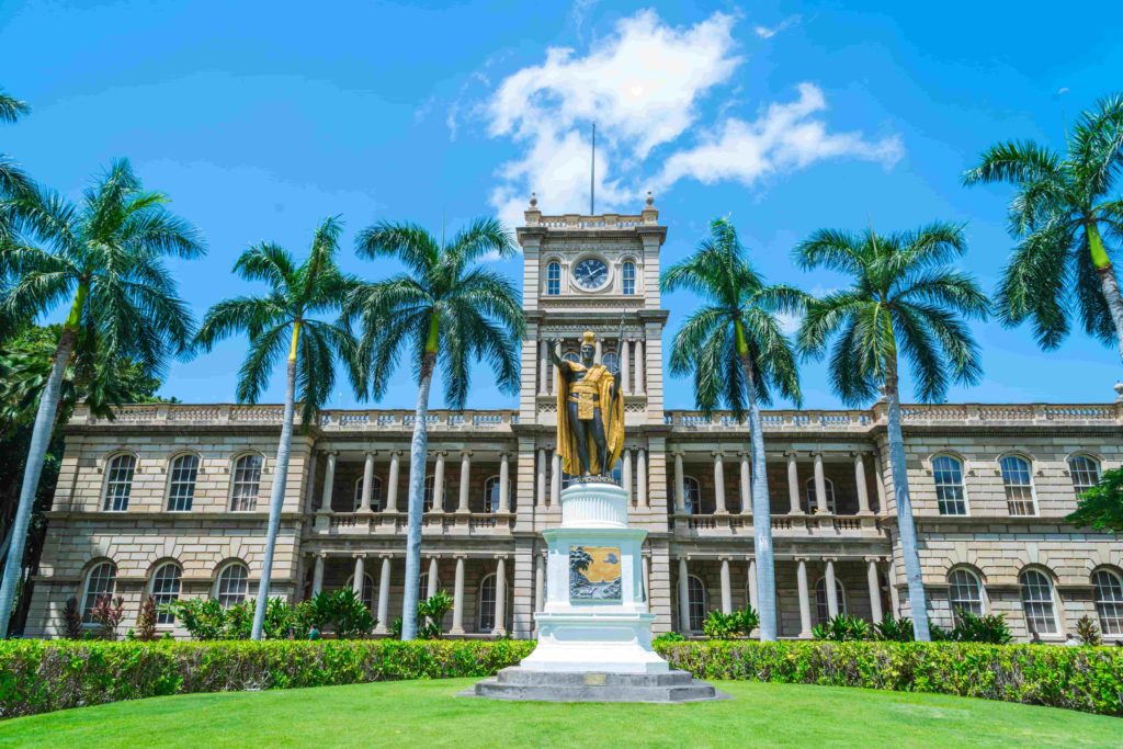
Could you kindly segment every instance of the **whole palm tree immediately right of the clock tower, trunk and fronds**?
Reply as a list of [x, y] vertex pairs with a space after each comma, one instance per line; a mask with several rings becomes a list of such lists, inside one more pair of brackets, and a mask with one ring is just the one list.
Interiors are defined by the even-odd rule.
[[800, 312], [806, 296], [791, 286], [766, 285], [724, 219], [710, 223], [710, 236], [693, 255], [667, 268], [661, 286], [706, 299], [675, 335], [670, 373], [693, 373], [694, 400], [703, 411], [723, 402], [742, 418], [748, 408], [760, 639], [775, 640], [776, 567], [760, 404], [772, 402], [773, 390], [802, 402], [795, 355], [777, 314]]

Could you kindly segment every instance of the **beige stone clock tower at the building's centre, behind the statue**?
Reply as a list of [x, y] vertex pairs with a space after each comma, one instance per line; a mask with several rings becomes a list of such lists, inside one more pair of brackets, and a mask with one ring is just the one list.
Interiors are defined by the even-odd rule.
[[[515, 569], [533, 573], [530, 579], [515, 579], [515, 630], [532, 633], [531, 614], [541, 601], [545, 572], [540, 532], [562, 522], [559, 495], [568, 481], [554, 444], [557, 373], [546, 341], [557, 341], [559, 357], [576, 360], [586, 330], [593, 331], [597, 360], [620, 372], [627, 435], [618, 477], [628, 492], [630, 524], [649, 533], [643, 566], [651, 610], [669, 612], [663, 413], [667, 312], [659, 300], [659, 253], [667, 228], [659, 223], [650, 193], [638, 214], [596, 216], [546, 216], [531, 195], [524, 218], [518, 228], [527, 316], [517, 426], [518, 496], [533, 497], [535, 512], [519, 513], [517, 555], [526, 555], [526, 564], [517, 563]], [[670, 629], [668, 613], [660, 614], [655, 629]]]

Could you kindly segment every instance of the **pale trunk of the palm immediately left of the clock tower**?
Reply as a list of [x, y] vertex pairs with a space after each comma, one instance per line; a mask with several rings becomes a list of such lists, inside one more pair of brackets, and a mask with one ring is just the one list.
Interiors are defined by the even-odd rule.
[[[418, 382], [418, 403], [413, 412], [413, 441], [410, 445], [410, 497], [405, 532], [405, 591], [402, 595], [402, 639], [418, 634], [418, 585], [421, 583], [421, 515], [424, 512], [424, 471], [429, 457], [429, 387], [437, 363], [435, 351], [426, 351]], [[438, 497], [433, 497], [437, 502]]]

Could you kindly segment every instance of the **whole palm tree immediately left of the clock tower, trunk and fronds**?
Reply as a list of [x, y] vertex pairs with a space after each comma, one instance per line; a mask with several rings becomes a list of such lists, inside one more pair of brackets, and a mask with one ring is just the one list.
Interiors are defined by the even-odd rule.
[[346, 317], [362, 328], [360, 395], [367, 395], [369, 385], [369, 394], [382, 398], [403, 353], [417, 377], [402, 604], [402, 639], [412, 640], [433, 371], [440, 366], [450, 409], [464, 408], [468, 369], [477, 359], [491, 366], [501, 391], [518, 391], [519, 341], [524, 329], [519, 292], [500, 274], [480, 266], [485, 257], [510, 257], [517, 247], [499, 221], [477, 219], [447, 244], [412, 223], [380, 222], [359, 232], [356, 252], [368, 259], [396, 257], [405, 266], [405, 273], [360, 286], [347, 301]]

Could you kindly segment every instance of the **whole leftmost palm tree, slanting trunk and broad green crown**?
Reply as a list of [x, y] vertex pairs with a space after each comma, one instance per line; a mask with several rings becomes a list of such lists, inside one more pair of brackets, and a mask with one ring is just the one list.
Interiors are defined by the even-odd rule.
[[3, 266], [13, 281], [0, 309], [15, 318], [34, 318], [69, 301], [70, 314], [35, 417], [0, 585], [0, 637], [7, 637], [31, 502], [75, 347], [88, 347], [107, 365], [118, 357], [131, 359], [153, 374], [163, 371], [168, 356], [190, 348], [191, 313], [164, 258], [201, 257], [206, 244], [194, 227], [164, 207], [166, 202], [163, 193], [143, 190], [125, 159], [113, 163], [77, 205], [42, 190], [18, 199], [21, 228], [49, 249], [26, 241], [3, 249]]

